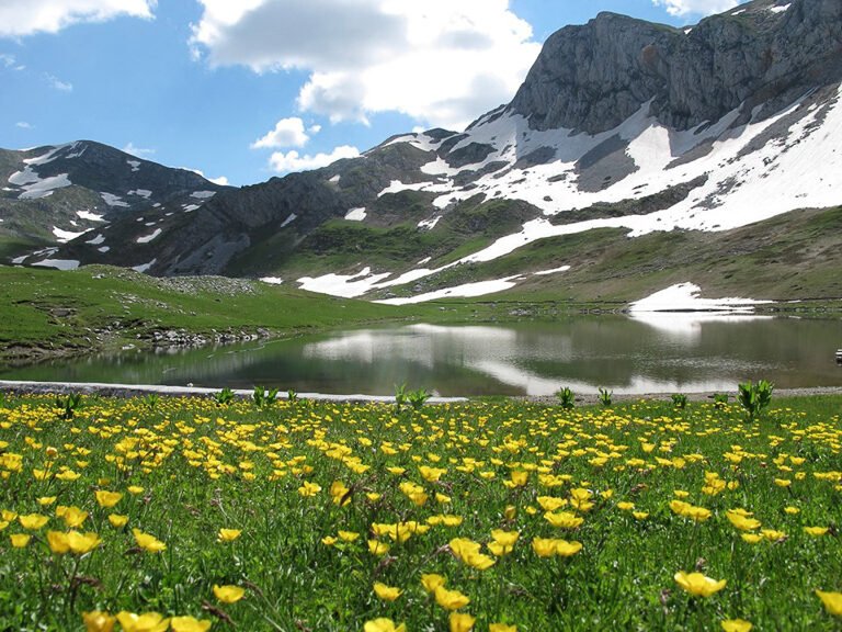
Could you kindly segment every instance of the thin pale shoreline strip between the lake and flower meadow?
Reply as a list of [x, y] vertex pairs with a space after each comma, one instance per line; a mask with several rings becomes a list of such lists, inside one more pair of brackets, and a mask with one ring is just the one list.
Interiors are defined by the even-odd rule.
[[[157, 384], [109, 384], [103, 382], [30, 382], [0, 380], [0, 392], [11, 392], [20, 394], [67, 394], [81, 393], [83, 395], [101, 395], [105, 397], [138, 397], [149, 394], [167, 395], [171, 397], [206, 397], [221, 391], [218, 388], [208, 388], [200, 386], [167, 386]], [[253, 388], [232, 388], [236, 397], [251, 397]], [[640, 399], [661, 399], [669, 398], [675, 391], [662, 393], [624, 393], [614, 394], [614, 402], [635, 402]], [[718, 393], [727, 394], [731, 402], [737, 400], [737, 391], [720, 391]], [[712, 400], [715, 392], [683, 393], [690, 402]], [[811, 397], [819, 395], [842, 395], [842, 386], [815, 386], [806, 388], [776, 388], [774, 396], [776, 398], [785, 397]], [[331, 393], [297, 393], [300, 399], [312, 399], [321, 402], [376, 402], [391, 404], [395, 402], [394, 395], [365, 395], [355, 394], [331, 394]], [[286, 393], [278, 393], [278, 400], [287, 397]], [[503, 397], [503, 396], [501, 396]], [[517, 402], [528, 402], [531, 404], [553, 405], [558, 404], [555, 395], [512, 395], [504, 396], [507, 399]], [[466, 403], [471, 400], [481, 402], [483, 397], [430, 397], [428, 405]], [[598, 405], [599, 393], [581, 393], [576, 395], [578, 406]]]

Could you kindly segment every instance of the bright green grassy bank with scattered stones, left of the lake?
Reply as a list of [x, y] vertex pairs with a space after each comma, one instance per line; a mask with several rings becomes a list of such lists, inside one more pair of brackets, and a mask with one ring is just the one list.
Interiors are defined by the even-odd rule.
[[[399, 319], [412, 311], [223, 278], [155, 279], [91, 266], [0, 267], [0, 359], [144, 345], [155, 331], [271, 334]], [[138, 336], [141, 339], [138, 339]]]

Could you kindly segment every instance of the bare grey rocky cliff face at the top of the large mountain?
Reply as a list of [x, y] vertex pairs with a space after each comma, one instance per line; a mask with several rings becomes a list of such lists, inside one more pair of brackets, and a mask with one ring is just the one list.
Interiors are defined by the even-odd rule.
[[546, 42], [509, 110], [535, 129], [596, 134], [651, 102], [660, 123], [690, 129], [839, 81], [840, 50], [839, 0], [755, 0], [685, 30], [602, 13]]

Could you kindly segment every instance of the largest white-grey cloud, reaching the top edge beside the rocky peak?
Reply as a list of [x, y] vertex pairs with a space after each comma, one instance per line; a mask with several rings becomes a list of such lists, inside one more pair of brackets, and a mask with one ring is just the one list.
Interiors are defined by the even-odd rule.
[[331, 122], [400, 112], [462, 127], [509, 101], [541, 49], [508, 0], [198, 1], [198, 56], [308, 71], [298, 106]]

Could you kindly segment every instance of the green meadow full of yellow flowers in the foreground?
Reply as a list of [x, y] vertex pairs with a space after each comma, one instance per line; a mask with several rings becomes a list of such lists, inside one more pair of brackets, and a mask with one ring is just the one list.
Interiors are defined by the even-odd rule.
[[0, 629], [839, 631], [827, 409], [8, 397]]

